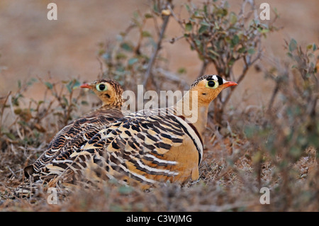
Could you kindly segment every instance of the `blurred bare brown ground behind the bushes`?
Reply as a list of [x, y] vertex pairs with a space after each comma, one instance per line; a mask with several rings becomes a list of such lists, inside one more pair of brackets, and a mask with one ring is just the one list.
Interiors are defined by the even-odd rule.
[[[150, 1], [142, 0], [55, 0], [58, 19], [48, 21], [47, 4], [50, 2], [0, 1], [0, 96], [18, 89], [18, 80], [46, 77], [49, 71], [54, 79], [96, 79], [100, 71], [97, 60], [99, 43], [114, 40], [118, 33], [127, 28], [133, 11], [139, 9], [146, 12], [147, 4], [150, 4]], [[174, 1], [174, 4], [179, 6], [184, 2]], [[236, 9], [241, 1], [229, 2], [232, 9]], [[262, 2], [257, 1], [257, 6]], [[319, 1], [268, 0], [267, 3], [280, 14], [276, 25], [284, 28], [264, 40], [264, 61], [274, 56], [284, 57], [284, 39], [295, 38], [303, 46], [319, 43]], [[274, 12], [271, 12], [272, 16]], [[169, 59], [169, 69], [177, 72], [180, 67], [186, 68], [185, 79], [191, 84], [198, 76], [201, 62], [185, 40], [179, 40], [174, 45], [168, 43], [167, 40], [180, 33], [177, 23], [171, 20], [167, 28], [168, 36], [164, 40], [164, 51]], [[240, 67], [240, 64], [235, 67], [235, 74], [236, 68]], [[206, 73], [213, 74], [215, 70], [210, 67]], [[239, 107], [245, 95], [247, 104], [267, 105], [272, 85], [270, 81], [264, 81], [261, 72], [250, 69], [230, 103]], [[41, 94], [43, 90], [37, 86], [26, 93], [32, 98]]]

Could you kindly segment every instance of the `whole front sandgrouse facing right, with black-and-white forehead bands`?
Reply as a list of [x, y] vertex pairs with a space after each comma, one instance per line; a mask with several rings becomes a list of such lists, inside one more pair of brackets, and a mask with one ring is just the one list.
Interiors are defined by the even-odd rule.
[[[218, 75], [199, 77], [175, 106], [131, 113], [100, 130], [60, 162], [67, 169], [63, 173], [90, 171], [97, 181], [118, 179], [142, 188], [157, 181], [198, 180], [208, 105], [220, 91], [235, 85]], [[54, 171], [61, 166], [48, 167]]]

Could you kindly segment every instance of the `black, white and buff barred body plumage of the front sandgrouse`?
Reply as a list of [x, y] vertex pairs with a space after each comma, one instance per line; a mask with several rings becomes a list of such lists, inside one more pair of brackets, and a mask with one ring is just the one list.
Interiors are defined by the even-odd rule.
[[[89, 167], [84, 163], [91, 162], [93, 171], [103, 169], [106, 178], [125, 183], [128, 180], [148, 185], [157, 181], [186, 181], [186, 177], [191, 178], [189, 170], [198, 170], [203, 144], [196, 132], [190, 132], [193, 129], [174, 114], [174, 108], [167, 110], [165, 115], [161, 109], [127, 115], [96, 133], [69, 159], [53, 161], [47, 168], [51, 173], [54, 170], [54, 174], [72, 170], [79, 175]], [[183, 153], [174, 153], [174, 148], [178, 150], [184, 140], [196, 147], [193, 155], [197, 161], [187, 161], [188, 155], [183, 159]]]

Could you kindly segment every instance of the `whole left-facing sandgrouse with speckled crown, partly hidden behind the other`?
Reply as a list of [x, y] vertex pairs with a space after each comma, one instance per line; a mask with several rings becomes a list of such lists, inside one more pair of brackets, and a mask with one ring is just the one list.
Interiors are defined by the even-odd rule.
[[[82, 118], [72, 121], [57, 132], [45, 152], [33, 164], [24, 169], [24, 174], [28, 179], [16, 188], [15, 196], [30, 192], [28, 189], [30, 180], [44, 183], [44, 181], [52, 179], [55, 175], [50, 174], [46, 167], [48, 164], [68, 159], [72, 152], [90, 140], [96, 132], [123, 116], [121, 112], [123, 89], [117, 81], [100, 79], [90, 84], [82, 84], [80, 87], [94, 91], [101, 99], [102, 106], [86, 113]], [[50, 176], [45, 178], [48, 174]]]

